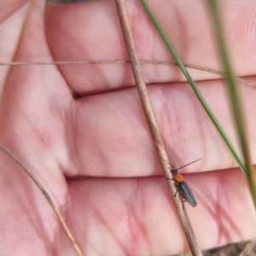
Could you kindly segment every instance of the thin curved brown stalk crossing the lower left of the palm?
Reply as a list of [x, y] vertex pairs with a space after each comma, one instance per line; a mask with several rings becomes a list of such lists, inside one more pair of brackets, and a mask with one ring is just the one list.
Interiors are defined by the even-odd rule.
[[47, 201], [49, 201], [50, 206], [53, 208], [53, 210], [55, 211], [57, 217], [59, 218], [61, 225], [63, 227], [63, 229], [65, 230], [68, 239], [71, 241], [74, 250], [76, 251], [76, 253], [79, 256], [83, 256], [83, 253], [81, 251], [81, 249], [79, 248], [79, 245], [77, 244], [77, 242], [75, 241], [71, 231], [69, 230], [64, 218], [61, 215], [61, 212], [59, 211], [59, 209], [56, 207], [54, 201], [52, 201], [52, 199], [50, 198], [49, 194], [47, 193], [47, 191], [44, 189], [44, 186], [39, 182], [38, 178], [25, 166], [25, 164], [14, 154], [12, 153], [8, 148], [5, 148], [2, 144], [0, 144], [0, 149], [3, 150], [3, 152], [5, 154], [8, 154], [9, 157], [13, 160], [15, 160], [15, 162], [32, 178], [33, 182], [37, 184], [38, 188], [42, 191], [42, 193], [44, 194], [44, 196], [46, 197]]

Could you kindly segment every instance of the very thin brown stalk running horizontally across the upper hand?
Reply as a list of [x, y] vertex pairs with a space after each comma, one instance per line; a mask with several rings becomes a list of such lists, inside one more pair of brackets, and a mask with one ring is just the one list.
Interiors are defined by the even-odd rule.
[[[177, 66], [176, 62], [173, 61], [151, 61], [151, 60], [140, 60], [140, 64], [151, 64], [151, 65], [172, 65]], [[129, 60], [109, 60], [109, 61], [5, 61], [0, 62], [0, 66], [22, 66], [22, 65], [84, 65], [84, 64], [125, 64], [130, 63]], [[205, 71], [207, 73], [215, 73], [220, 77], [224, 77], [224, 73], [212, 68], [201, 67], [192, 64], [184, 64], [185, 67]], [[256, 84], [248, 82], [245, 79], [236, 78], [237, 82], [256, 88]]]

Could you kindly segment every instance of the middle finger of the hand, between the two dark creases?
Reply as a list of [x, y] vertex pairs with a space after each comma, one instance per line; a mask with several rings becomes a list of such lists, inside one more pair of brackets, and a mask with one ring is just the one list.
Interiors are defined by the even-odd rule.
[[[200, 82], [200, 90], [216, 114], [224, 131], [235, 145], [229, 102], [221, 81]], [[187, 84], [148, 86], [160, 133], [173, 166], [183, 166], [201, 159], [181, 172], [205, 172], [236, 166], [212, 121]], [[247, 117], [247, 135], [254, 141], [255, 94], [241, 88]], [[136, 89], [87, 96], [77, 101], [70, 130], [71, 161], [80, 175], [140, 177], [160, 175], [148, 125]], [[256, 152], [251, 144], [253, 162]], [[67, 169], [73, 175], [74, 169]]]

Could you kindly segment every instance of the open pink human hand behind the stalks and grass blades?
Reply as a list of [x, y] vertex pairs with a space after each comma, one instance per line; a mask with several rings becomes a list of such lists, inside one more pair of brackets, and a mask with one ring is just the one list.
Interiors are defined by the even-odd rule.
[[[125, 1], [141, 59], [172, 61], [139, 1]], [[203, 1], [148, 1], [183, 61], [221, 70]], [[222, 3], [237, 75], [255, 82], [255, 1]], [[1, 61], [127, 59], [114, 1], [3, 1]], [[195, 194], [185, 203], [201, 249], [255, 236], [247, 182], [177, 67], [143, 65], [172, 165]], [[191, 70], [236, 145], [224, 82]], [[84, 255], [188, 251], [129, 65], [1, 67], [0, 141], [29, 166]], [[255, 90], [240, 84], [253, 142]], [[256, 161], [251, 144], [253, 163]], [[76, 255], [44, 195], [0, 154], [0, 254]], [[84, 177], [78, 179], [77, 177]]]

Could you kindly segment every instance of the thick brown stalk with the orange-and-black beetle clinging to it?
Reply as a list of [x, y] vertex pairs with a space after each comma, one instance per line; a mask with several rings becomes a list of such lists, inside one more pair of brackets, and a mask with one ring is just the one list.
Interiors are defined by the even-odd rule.
[[148, 121], [148, 126], [154, 142], [154, 146], [156, 148], [157, 154], [159, 155], [160, 163], [161, 163], [163, 172], [166, 176], [166, 181], [168, 183], [168, 187], [170, 189], [172, 199], [177, 209], [178, 217], [183, 226], [183, 231], [189, 243], [191, 253], [193, 253], [193, 255], [201, 255], [200, 248], [198, 246], [194, 231], [189, 221], [189, 216], [185, 208], [183, 207], [182, 198], [180, 196], [175, 196], [176, 187], [171, 179], [172, 177], [171, 177], [171, 173], [168, 165], [169, 161], [167, 159], [166, 149], [162, 141], [162, 138], [160, 137], [160, 130], [158, 128], [156, 119], [154, 117], [154, 111], [148, 97], [147, 86], [144, 82], [143, 73], [140, 68], [139, 60], [137, 58], [137, 52], [136, 52], [134, 40], [131, 35], [131, 28], [129, 25], [129, 20], [128, 20], [126, 9], [125, 9], [125, 1], [116, 0], [115, 2], [116, 2], [116, 6], [119, 13], [119, 21], [121, 24], [124, 38], [125, 38], [126, 48], [130, 56], [131, 69], [137, 84], [137, 90], [143, 105], [143, 110], [144, 110], [146, 119]]

